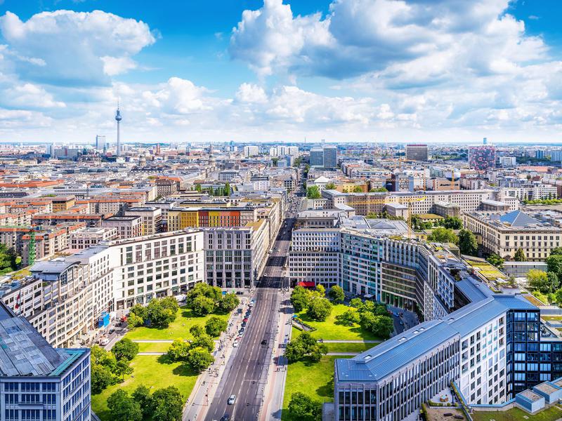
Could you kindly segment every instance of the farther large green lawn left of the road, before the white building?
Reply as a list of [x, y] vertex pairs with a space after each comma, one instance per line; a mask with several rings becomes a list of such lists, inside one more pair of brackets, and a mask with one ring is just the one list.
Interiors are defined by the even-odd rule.
[[178, 317], [175, 321], [170, 323], [170, 326], [164, 329], [158, 328], [134, 328], [131, 332], [125, 335], [125, 338], [130, 340], [138, 339], [192, 339], [193, 336], [189, 332], [191, 326], [199, 324], [201, 326], [205, 325], [205, 322], [211, 316], [219, 316], [225, 320], [228, 320], [229, 314], [209, 314], [208, 316], [198, 317], [195, 316], [192, 311], [188, 308], [182, 307], [179, 309]]

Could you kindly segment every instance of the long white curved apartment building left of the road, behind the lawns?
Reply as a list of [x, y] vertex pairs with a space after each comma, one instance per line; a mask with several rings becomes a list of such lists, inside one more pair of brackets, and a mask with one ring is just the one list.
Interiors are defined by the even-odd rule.
[[202, 282], [203, 245], [197, 229], [109, 241], [37, 262], [32, 276], [0, 294], [51, 345], [70, 347], [88, 338], [106, 312], [185, 293]]

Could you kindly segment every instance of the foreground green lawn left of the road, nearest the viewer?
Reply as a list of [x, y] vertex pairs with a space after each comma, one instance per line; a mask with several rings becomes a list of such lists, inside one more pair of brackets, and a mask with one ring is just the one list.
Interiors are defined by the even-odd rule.
[[107, 397], [117, 389], [124, 389], [126, 392], [133, 392], [138, 385], [145, 385], [148, 388], [159, 389], [162, 387], [176, 386], [184, 401], [195, 385], [197, 374], [181, 366], [181, 363], [168, 363], [164, 356], [138, 355], [131, 361], [133, 374], [126, 377], [126, 380], [117, 385], [107, 387], [102, 393], [92, 395], [92, 409], [105, 421], [108, 419]]

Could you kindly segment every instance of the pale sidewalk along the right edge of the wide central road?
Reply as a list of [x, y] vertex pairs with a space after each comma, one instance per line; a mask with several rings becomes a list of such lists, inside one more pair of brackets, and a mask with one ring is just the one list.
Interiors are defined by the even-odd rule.
[[[289, 300], [289, 295], [286, 295], [285, 300]], [[273, 356], [269, 367], [260, 421], [281, 420], [288, 368], [287, 359], [283, 354], [285, 354], [285, 344], [291, 339], [291, 319], [292, 313], [281, 313], [278, 319], [277, 335], [273, 345]]]

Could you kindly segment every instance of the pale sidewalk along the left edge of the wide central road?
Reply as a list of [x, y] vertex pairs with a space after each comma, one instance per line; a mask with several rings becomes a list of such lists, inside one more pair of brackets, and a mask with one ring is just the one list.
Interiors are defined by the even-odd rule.
[[[242, 309], [247, 307], [249, 300], [250, 298], [244, 304], [241, 304]], [[243, 318], [243, 313], [234, 314], [228, 321], [228, 329], [216, 341], [218, 347], [213, 353], [215, 362], [197, 377], [195, 387], [193, 387], [183, 408], [183, 421], [205, 420], [209, 403], [214, 399], [216, 389], [226, 369], [226, 363], [233, 351], [238, 349], [233, 347], [232, 344], [237, 337], [237, 330], [240, 328]]]

